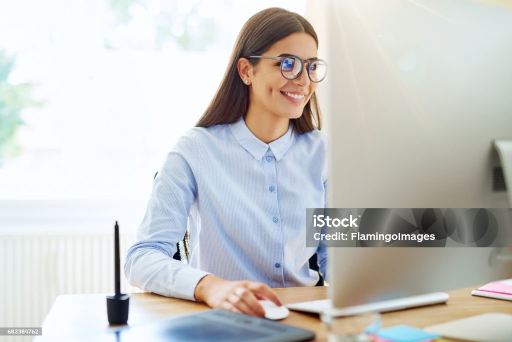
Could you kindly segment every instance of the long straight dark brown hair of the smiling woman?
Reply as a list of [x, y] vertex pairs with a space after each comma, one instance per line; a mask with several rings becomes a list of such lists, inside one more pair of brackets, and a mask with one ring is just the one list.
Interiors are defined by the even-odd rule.
[[[295, 32], [310, 34], [318, 47], [315, 30], [304, 17], [297, 13], [273, 7], [251, 16], [238, 34], [222, 82], [196, 126], [232, 124], [244, 116], [249, 108], [249, 87], [240, 79], [237, 69], [238, 60], [241, 57], [262, 55], [275, 42]], [[249, 62], [252, 66], [256, 66], [259, 58], [251, 58]], [[321, 113], [315, 93], [304, 106], [302, 115], [290, 120], [293, 131], [297, 134], [322, 128]]]

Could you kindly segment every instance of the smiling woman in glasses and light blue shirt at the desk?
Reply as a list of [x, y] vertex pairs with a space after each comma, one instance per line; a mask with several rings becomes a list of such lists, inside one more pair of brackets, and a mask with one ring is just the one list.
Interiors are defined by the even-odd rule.
[[[316, 284], [314, 253], [325, 277], [326, 251], [306, 247], [304, 219], [306, 208], [324, 208], [326, 193], [317, 46], [296, 13], [269, 8], [247, 21], [214, 99], [155, 178], [126, 256], [130, 284], [263, 316], [258, 299], [281, 305], [271, 287]], [[187, 217], [183, 265], [172, 256]]]

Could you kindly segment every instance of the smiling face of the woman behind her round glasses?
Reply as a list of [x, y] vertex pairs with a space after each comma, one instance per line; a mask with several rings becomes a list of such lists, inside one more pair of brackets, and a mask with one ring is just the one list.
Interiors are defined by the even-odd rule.
[[[282, 54], [295, 55], [302, 59], [316, 57], [316, 43], [307, 33], [297, 32], [274, 43], [262, 55], [279, 57]], [[301, 74], [295, 79], [286, 79], [281, 74], [281, 62], [274, 59], [260, 58], [255, 72], [250, 76], [250, 106], [271, 115], [286, 118], [297, 118], [302, 115], [304, 106], [315, 91], [317, 83], [311, 82], [307, 73], [308, 65], [304, 65]], [[291, 93], [303, 98], [292, 98]]]

